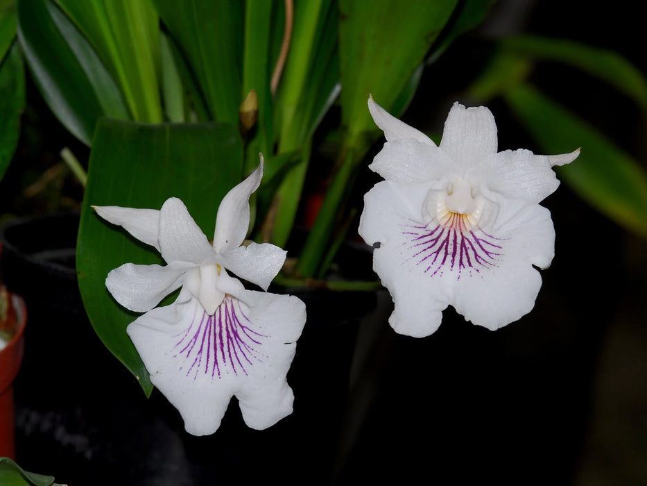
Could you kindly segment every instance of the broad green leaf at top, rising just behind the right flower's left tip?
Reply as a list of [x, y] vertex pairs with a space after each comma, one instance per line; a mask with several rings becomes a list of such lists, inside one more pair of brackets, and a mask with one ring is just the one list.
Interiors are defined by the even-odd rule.
[[457, 0], [340, 0], [339, 50], [343, 124], [350, 140], [374, 130], [368, 95], [390, 110]]

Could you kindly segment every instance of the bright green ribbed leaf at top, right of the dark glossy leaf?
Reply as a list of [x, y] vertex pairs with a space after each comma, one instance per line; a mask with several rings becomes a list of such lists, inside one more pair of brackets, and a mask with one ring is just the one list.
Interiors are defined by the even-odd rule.
[[163, 121], [159, 21], [150, 0], [58, 0], [117, 81], [137, 121]]

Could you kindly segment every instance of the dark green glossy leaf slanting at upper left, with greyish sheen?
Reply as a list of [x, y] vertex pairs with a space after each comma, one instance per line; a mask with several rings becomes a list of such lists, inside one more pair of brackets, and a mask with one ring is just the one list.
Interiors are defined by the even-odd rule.
[[[18, 38], [49, 108], [89, 145], [96, 119], [105, 115], [94, 85], [49, 14], [51, 0], [18, 1]], [[55, 6], [53, 6], [55, 8]]]

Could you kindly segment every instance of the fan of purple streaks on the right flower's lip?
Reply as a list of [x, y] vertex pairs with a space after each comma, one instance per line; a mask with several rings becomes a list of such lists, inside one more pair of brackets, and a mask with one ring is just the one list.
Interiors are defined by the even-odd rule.
[[456, 279], [467, 272], [478, 273], [483, 268], [496, 267], [501, 257], [501, 240], [480, 230], [461, 231], [460, 228], [435, 226], [411, 221], [403, 225], [402, 235], [409, 241], [403, 246], [406, 259], [414, 260], [430, 276], [442, 275], [445, 270], [456, 269]]

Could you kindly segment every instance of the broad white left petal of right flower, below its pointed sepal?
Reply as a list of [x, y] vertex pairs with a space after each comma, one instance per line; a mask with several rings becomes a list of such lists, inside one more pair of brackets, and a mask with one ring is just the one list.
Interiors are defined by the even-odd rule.
[[435, 145], [412, 138], [386, 142], [369, 166], [387, 181], [416, 183], [460, 176], [462, 169]]

